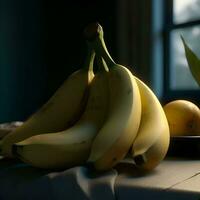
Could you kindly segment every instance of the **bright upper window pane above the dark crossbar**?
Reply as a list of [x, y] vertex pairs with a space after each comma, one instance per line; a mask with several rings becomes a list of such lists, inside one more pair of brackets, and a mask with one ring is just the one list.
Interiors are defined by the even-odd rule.
[[200, 19], [200, 0], [174, 0], [174, 23]]

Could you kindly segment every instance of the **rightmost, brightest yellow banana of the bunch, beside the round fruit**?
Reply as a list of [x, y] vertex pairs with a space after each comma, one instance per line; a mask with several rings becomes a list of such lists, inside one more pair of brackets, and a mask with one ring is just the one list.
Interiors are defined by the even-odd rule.
[[131, 155], [138, 167], [150, 170], [156, 167], [167, 153], [169, 125], [162, 105], [153, 91], [139, 78], [135, 79], [140, 90], [142, 115]]

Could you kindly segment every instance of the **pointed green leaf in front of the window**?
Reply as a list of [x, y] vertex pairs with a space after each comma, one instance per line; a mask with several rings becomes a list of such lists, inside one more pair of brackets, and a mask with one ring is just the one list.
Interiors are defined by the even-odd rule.
[[181, 36], [184, 49], [185, 49], [185, 56], [190, 68], [190, 71], [192, 73], [192, 76], [196, 80], [196, 82], [200, 86], [200, 59], [197, 57], [197, 55], [189, 48], [189, 46], [186, 44], [184, 38]]

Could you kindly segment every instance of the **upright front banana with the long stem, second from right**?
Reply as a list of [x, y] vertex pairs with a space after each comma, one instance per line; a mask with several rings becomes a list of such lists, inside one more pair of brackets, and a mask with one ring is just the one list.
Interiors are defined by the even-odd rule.
[[141, 116], [140, 94], [131, 72], [109, 55], [102, 27], [90, 24], [85, 36], [109, 68], [110, 93], [108, 116], [93, 141], [88, 163], [97, 170], [108, 170], [125, 157], [136, 137]]

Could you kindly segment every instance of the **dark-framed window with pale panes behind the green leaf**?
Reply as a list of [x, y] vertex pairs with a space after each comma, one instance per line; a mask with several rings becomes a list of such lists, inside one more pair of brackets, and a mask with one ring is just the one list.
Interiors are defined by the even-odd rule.
[[164, 94], [197, 99], [199, 86], [190, 73], [180, 36], [200, 57], [200, 0], [168, 0], [164, 9]]

